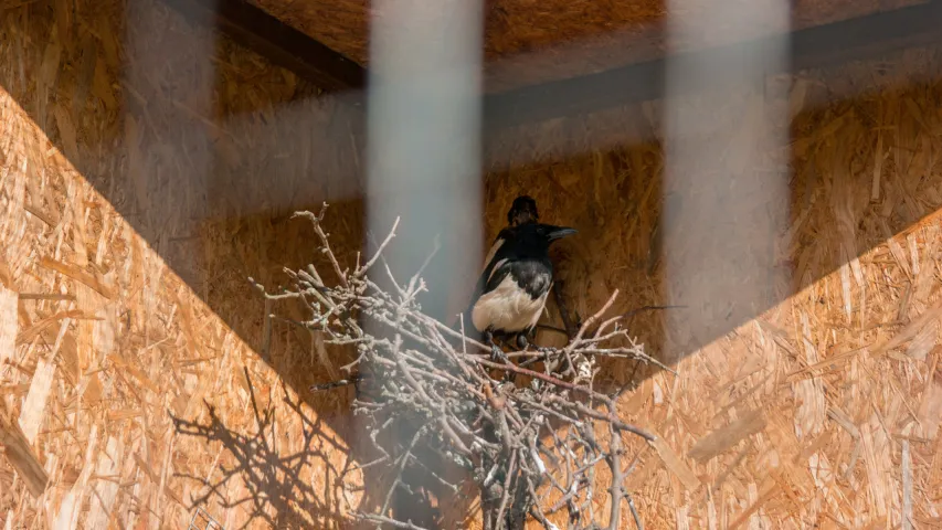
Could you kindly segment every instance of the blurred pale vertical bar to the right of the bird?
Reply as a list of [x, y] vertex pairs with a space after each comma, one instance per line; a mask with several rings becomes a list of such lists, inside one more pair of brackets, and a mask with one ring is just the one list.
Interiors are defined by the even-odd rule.
[[670, 304], [688, 306], [667, 316], [671, 362], [679, 360], [671, 352], [695, 351], [788, 295], [779, 241], [791, 201], [787, 85], [776, 87], [766, 73], [788, 70], [790, 4], [697, 3], [668, 1], [671, 51], [755, 26], [781, 39], [667, 65], [665, 287]]

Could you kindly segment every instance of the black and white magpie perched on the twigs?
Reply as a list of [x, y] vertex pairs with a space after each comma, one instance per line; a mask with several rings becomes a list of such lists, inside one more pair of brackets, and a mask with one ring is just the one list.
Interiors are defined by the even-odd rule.
[[536, 222], [536, 202], [529, 197], [518, 198], [515, 206], [508, 213], [511, 226], [500, 231], [491, 246], [465, 312], [465, 321], [490, 342], [497, 357], [495, 336], [516, 336], [517, 346], [527, 347], [526, 336], [540, 319], [553, 284], [550, 245], [576, 233]]

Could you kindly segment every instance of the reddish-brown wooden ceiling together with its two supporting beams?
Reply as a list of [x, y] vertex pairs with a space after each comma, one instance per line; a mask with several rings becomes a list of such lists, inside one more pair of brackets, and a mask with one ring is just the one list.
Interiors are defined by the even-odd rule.
[[[351, 108], [363, 108], [369, 67], [364, 0], [163, 1], [215, 23], [236, 42], [316, 86], [345, 92]], [[777, 42], [781, 32], [791, 32], [791, 64], [782, 67], [793, 72], [942, 43], [942, 0], [797, 0], [790, 23], [770, 17], [764, 24], [720, 19], [707, 9], [707, 0], [684, 0], [687, 20], [710, 20], [700, 34], [673, 43], [669, 53], [664, 45], [665, 10], [656, 3], [660, 0], [638, 0], [621, 9], [611, 0], [568, 0], [554, 10], [550, 6], [565, 0], [486, 1], [487, 129], [657, 99], [664, 95], [670, 61], [709, 61], [709, 84], [722, 84], [735, 77], [727, 73], [741, 67], [755, 46]], [[514, 22], [525, 17], [531, 23]]]

